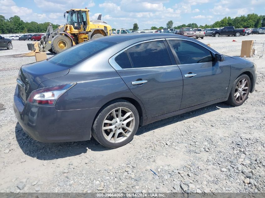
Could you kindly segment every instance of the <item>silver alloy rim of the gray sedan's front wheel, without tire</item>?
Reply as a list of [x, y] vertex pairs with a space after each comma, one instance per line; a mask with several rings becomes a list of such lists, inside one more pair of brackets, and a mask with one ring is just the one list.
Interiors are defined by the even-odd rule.
[[237, 85], [236, 85], [236, 89], [235, 89], [235, 100], [237, 103], [241, 103], [242, 101], [244, 101], [246, 99], [247, 93], [248, 93], [248, 89], [249, 89], [249, 82], [247, 79], [241, 79]]

